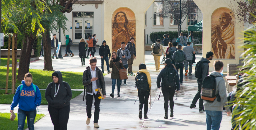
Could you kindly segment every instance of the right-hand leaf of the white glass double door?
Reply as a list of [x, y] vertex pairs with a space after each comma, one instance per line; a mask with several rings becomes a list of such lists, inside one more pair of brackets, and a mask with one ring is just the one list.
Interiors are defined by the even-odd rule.
[[93, 18], [84, 18], [84, 39], [88, 39], [88, 35], [93, 35]]

